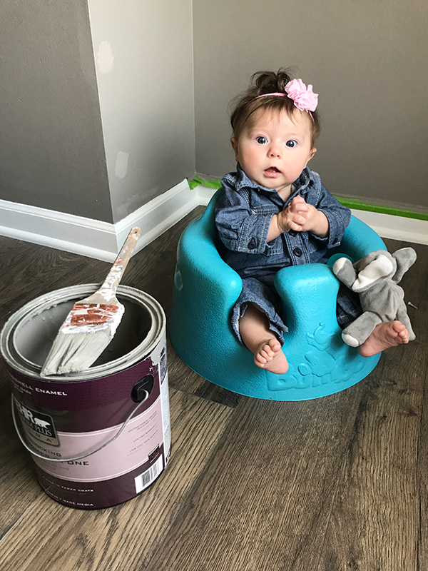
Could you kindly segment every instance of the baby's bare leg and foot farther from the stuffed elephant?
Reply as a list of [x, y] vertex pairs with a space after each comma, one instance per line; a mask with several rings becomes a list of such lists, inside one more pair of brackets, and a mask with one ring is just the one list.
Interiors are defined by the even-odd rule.
[[248, 303], [239, 321], [240, 336], [248, 349], [254, 353], [255, 364], [271, 373], [287, 373], [288, 363], [282, 353], [280, 342], [269, 328], [266, 315], [253, 303]]

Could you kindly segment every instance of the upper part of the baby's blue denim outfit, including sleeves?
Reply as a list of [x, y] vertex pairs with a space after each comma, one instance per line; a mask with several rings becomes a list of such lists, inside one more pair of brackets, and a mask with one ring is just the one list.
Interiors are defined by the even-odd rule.
[[[215, 225], [226, 247], [223, 259], [241, 277], [259, 278], [285, 266], [319, 262], [329, 248], [340, 245], [351, 211], [327, 191], [315, 171], [306, 167], [284, 201], [275, 189], [258, 186], [239, 164], [237, 168], [238, 172], [223, 178], [224, 192], [215, 207]], [[328, 235], [320, 238], [312, 232], [290, 230], [267, 243], [272, 216], [297, 195], [327, 216]]]

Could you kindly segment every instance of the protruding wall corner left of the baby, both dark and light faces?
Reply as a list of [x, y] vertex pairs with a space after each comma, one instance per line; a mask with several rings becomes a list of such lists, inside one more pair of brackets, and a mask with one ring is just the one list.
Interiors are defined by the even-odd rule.
[[0, 2], [0, 198], [116, 223], [193, 176], [191, 6]]

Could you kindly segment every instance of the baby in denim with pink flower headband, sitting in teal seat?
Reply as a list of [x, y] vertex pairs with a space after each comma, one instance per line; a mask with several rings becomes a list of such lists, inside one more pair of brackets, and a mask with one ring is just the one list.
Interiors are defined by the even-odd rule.
[[[311, 85], [291, 80], [284, 70], [253, 76], [230, 117], [237, 172], [223, 178], [215, 209], [223, 258], [243, 279], [233, 329], [255, 364], [277, 374], [286, 373], [288, 363], [281, 350], [287, 326], [280, 318], [275, 273], [322, 261], [350, 223], [349, 208], [307, 167], [320, 135], [317, 100]], [[339, 325], [344, 328], [361, 313], [358, 296], [341, 285]], [[391, 321], [377, 325], [358, 350], [369, 357], [408, 341], [407, 328]]]

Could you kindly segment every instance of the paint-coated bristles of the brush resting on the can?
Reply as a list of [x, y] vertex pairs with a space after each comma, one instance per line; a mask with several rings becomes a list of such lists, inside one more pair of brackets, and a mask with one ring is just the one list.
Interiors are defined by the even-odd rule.
[[63, 333], [61, 330], [41, 370], [41, 377], [88, 369], [111, 342], [109, 329], [97, 333]]

